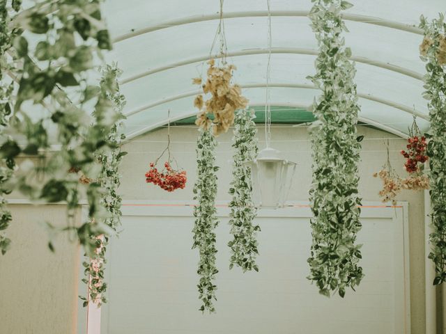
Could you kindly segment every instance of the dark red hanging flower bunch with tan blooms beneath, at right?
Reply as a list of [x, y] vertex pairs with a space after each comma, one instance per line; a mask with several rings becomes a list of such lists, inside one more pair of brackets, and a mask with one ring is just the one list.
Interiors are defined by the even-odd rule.
[[429, 189], [429, 177], [424, 174], [424, 163], [429, 159], [426, 155], [427, 142], [415, 118], [406, 148], [407, 150], [401, 150], [401, 154], [406, 158], [404, 168], [409, 176], [402, 180], [402, 188], [415, 191]]

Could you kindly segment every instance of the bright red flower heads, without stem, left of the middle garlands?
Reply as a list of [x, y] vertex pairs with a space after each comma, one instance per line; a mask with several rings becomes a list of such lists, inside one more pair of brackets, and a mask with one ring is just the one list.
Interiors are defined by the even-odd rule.
[[164, 163], [164, 168], [166, 169], [161, 173], [157, 170], [154, 162], [151, 162], [150, 166], [151, 168], [146, 173], [147, 183], [156, 184], [161, 189], [169, 192], [176, 189], [184, 189], [186, 186], [187, 177], [185, 170], [174, 170], [169, 162]]

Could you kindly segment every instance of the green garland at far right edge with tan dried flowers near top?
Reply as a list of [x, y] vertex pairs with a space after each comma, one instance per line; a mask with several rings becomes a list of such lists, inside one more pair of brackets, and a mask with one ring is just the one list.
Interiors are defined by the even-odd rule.
[[429, 259], [436, 267], [433, 285], [446, 281], [446, 23], [445, 15], [428, 22], [421, 17], [424, 41], [420, 46], [426, 62], [424, 98], [428, 100], [431, 138], [427, 145], [430, 158], [431, 220], [433, 232]]

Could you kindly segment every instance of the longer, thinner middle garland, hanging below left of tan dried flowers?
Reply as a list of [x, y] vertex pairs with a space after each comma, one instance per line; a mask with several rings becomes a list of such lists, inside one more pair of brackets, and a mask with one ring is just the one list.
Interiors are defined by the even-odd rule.
[[215, 209], [215, 197], [217, 196], [218, 167], [215, 166], [215, 148], [217, 141], [213, 135], [213, 126], [208, 129], [199, 129], [197, 140], [197, 182], [194, 184], [195, 225], [194, 244], [192, 248], [199, 250], [199, 264], [197, 273], [200, 276], [199, 299], [203, 302], [199, 310], [215, 312], [213, 300], [217, 286], [214, 284], [218, 269], [215, 264], [217, 248], [215, 228], [217, 228], [217, 209]]

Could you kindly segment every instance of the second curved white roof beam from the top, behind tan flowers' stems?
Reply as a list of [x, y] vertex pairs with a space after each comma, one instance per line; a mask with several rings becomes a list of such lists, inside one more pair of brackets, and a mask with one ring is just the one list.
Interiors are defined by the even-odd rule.
[[[227, 57], [253, 56], [256, 54], [268, 54], [268, 53], [269, 53], [268, 49], [247, 49], [247, 50], [241, 50], [241, 51], [228, 52], [226, 54], [226, 56]], [[275, 48], [271, 49], [271, 53], [272, 54], [305, 54], [305, 55], [309, 55], [309, 56], [317, 56], [318, 55], [318, 51], [316, 51], [316, 50], [303, 49], [300, 47], [275, 47]], [[155, 74], [158, 72], [171, 70], [172, 68], [175, 68], [175, 67], [191, 65], [193, 63], [200, 63], [202, 61], [208, 61], [210, 58], [221, 58], [221, 57], [222, 57], [221, 54], [215, 54], [213, 56], [210, 56], [209, 54], [207, 54], [207, 55], [203, 55], [203, 56], [199, 56], [199, 57], [186, 59], [184, 61], [178, 61], [177, 63], [172, 63], [172, 64], [161, 66], [161, 67], [156, 67], [152, 70], [148, 70], [145, 72], [141, 72], [139, 74], [135, 74], [132, 77], [128, 77], [128, 78], [121, 80], [120, 83], [121, 83], [121, 85], [128, 84], [129, 82], [132, 82], [134, 80], [141, 79], [143, 77], [147, 77], [148, 75]], [[403, 75], [406, 75], [407, 77], [411, 77], [413, 79], [417, 79], [420, 81], [422, 81], [422, 79], [423, 79], [422, 74], [415, 72], [413, 70], [409, 70], [405, 67], [392, 65], [390, 63], [385, 63], [383, 61], [375, 61], [374, 59], [369, 59], [369, 58], [362, 57], [362, 56], [351, 56], [350, 58], [352, 61], [356, 61], [357, 63], [363, 63], [363, 64], [367, 64], [367, 65], [371, 65], [371, 66], [380, 67], [385, 70], [397, 72], [399, 74], [403, 74]]]

